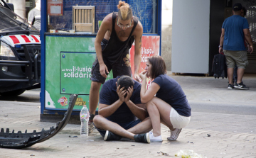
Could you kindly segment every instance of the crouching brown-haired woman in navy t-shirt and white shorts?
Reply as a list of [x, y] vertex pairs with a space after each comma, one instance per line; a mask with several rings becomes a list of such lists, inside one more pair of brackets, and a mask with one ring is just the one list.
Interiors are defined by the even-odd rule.
[[[153, 132], [149, 132], [150, 141], [162, 141], [161, 123], [171, 130], [167, 139], [176, 140], [191, 119], [191, 107], [181, 86], [166, 74], [166, 64], [160, 56], [149, 57], [139, 77], [142, 78], [141, 101], [146, 103], [153, 126]], [[147, 90], [146, 77], [154, 79]]]

